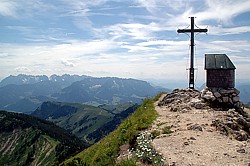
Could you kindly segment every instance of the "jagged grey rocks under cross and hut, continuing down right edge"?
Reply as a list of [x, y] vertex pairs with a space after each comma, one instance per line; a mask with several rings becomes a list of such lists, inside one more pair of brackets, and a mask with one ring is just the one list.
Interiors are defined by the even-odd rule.
[[[244, 111], [239, 99], [239, 91], [235, 88], [205, 88], [202, 92], [192, 89], [175, 89], [167, 94], [160, 106], [172, 112], [185, 113], [193, 109], [203, 111], [220, 111], [220, 116], [212, 120], [212, 125], [221, 134], [238, 141], [250, 139], [250, 118]], [[188, 130], [202, 131], [198, 124], [191, 125]]]

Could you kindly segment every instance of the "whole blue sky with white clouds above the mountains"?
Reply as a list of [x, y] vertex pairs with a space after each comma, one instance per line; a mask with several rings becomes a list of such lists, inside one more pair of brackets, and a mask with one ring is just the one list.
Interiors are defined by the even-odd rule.
[[249, 0], [0, 0], [0, 79], [19, 73], [115, 76], [188, 85], [194, 16], [196, 85], [204, 54], [225, 53], [250, 81]]

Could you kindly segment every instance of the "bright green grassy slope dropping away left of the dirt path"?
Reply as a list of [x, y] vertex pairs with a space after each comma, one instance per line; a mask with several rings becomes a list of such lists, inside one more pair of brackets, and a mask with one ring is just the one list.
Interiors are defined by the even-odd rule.
[[159, 97], [160, 95], [154, 99], [146, 99], [115, 131], [90, 148], [70, 158], [64, 164], [115, 165], [119, 147], [127, 143], [133, 145], [138, 134], [151, 126], [156, 119], [157, 112], [154, 109], [154, 102], [158, 100]]

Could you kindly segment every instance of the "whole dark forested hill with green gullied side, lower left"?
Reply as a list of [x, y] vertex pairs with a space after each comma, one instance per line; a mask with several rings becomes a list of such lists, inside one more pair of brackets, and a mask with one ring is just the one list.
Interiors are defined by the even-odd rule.
[[52, 122], [0, 111], [0, 165], [52, 165], [89, 146]]

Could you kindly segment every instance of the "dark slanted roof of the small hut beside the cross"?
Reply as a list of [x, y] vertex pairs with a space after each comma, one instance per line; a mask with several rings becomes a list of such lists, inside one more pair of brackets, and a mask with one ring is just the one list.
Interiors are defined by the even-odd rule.
[[236, 69], [226, 54], [205, 54], [205, 70]]

